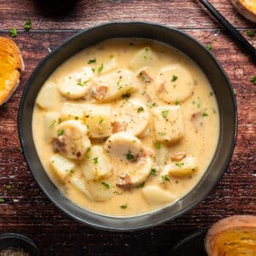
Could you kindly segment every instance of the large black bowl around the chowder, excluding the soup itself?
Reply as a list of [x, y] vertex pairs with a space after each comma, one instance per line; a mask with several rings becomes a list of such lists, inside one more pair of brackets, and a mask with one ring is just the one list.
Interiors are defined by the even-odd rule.
[[[204, 176], [188, 195], [163, 209], [130, 218], [114, 218], [90, 212], [69, 201], [51, 182], [38, 158], [32, 138], [32, 111], [44, 81], [67, 58], [108, 38], [149, 38], [171, 45], [188, 55], [206, 74], [218, 100], [220, 136], [218, 147]], [[229, 79], [213, 55], [194, 38], [169, 26], [145, 22], [118, 22], [95, 26], [76, 34], [52, 51], [32, 73], [20, 101], [19, 135], [26, 162], [41, 189], [63, 212], [83, 224], [108, 230], [138, 230], [177, 218], [202, 201], [218, 183], [236, 141], [236, 99]]]

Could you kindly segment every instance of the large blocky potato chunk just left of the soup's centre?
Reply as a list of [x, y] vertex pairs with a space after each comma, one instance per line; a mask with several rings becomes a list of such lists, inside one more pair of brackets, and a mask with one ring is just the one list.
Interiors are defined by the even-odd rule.
[[109, 137], [112, 134], [112, 108], [110, 105], [87, 105], [85, 118], [90, 137]]

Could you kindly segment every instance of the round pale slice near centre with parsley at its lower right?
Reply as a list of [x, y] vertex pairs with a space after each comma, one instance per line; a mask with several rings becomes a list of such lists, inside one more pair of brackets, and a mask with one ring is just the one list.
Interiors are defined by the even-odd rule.
[[129, 132], [121, 131], [108, 137], [104, 145], [105, 150], [121, 159], [136, 161], [142, 152], [141, 141]]

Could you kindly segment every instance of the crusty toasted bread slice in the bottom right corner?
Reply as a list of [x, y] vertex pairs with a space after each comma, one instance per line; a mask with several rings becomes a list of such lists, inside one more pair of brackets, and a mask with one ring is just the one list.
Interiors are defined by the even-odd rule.
[[205, 245], [209, 256], [256, 256], [256, 216], [219, 220], [208, 230]]

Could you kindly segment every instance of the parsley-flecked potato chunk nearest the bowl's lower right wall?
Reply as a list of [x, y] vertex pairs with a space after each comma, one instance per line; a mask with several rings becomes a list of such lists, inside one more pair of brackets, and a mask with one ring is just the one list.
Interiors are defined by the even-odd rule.
[[175, 177], [185, 177], [193, 174], [195, 172], [196, 160], [194, 156], [187, 156], [183, 160], [172, 162], [168, 164], [161, 175], [175, 176]]

